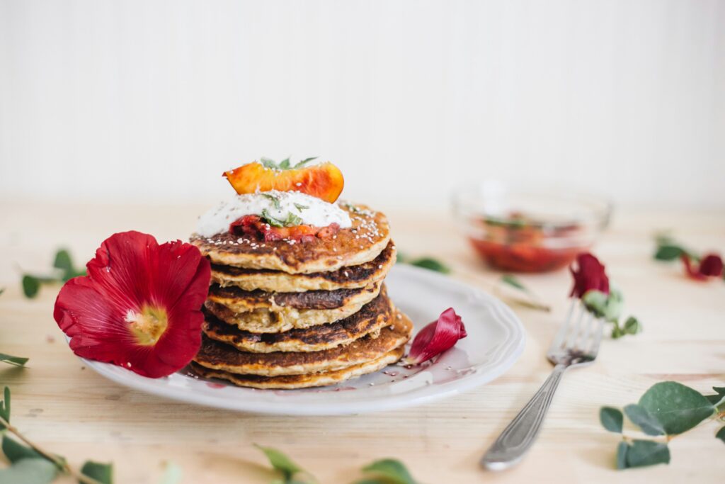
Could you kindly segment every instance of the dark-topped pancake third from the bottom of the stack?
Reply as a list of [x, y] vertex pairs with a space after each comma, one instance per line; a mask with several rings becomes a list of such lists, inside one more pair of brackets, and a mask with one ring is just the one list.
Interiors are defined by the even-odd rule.
[[202, 329], [210, 339], [228, 343], [240, 351], [250, 353], [321, 351], [348, 345], [365, 335], [375, 337], [383, 327], [392, 323], [393, 311], [390, 300], [381, 294], [346, 319], [307, 329], [253, 333], [241, 331], [210, 314], [207, 314]]

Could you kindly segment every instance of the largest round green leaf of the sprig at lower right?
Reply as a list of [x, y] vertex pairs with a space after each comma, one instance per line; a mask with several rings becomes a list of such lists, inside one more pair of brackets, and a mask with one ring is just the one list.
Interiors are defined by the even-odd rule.
[[695, 427], [715, 411], [700, 392], [678, 382], [656, 383], [639, 398], [639, 406], [649, 411], [668, 435]]

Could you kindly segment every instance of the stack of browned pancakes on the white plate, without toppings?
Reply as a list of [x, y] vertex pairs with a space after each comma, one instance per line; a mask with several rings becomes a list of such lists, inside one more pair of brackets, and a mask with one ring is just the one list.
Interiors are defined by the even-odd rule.
[[191, 369], [245, 387], [332, 385], [398, 361], [413, 325], [389, 300], [386, 217], [341, 204], [352, 227], [307, 242], [192, 235], [212, 263]]

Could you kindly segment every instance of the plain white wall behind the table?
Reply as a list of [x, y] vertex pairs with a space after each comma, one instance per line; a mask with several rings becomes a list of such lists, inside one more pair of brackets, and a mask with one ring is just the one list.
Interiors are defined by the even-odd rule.
[[211, 203], [260, 155], [725, 208], [725, 1], [0, 0], [1, 197]]

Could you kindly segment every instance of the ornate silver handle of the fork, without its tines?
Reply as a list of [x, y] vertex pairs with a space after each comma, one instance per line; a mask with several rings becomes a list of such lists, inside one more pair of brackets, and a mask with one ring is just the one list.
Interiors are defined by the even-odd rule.
[[517, 464], [529, 450], [541, 429], [544, 417], [554, 397], [554, 392], [567, 365], [556, 365], [536, 395], [518, 412], [508, 424], [494, 445], [481, 457], [481, 467], [489, 470], [503, 470]]

